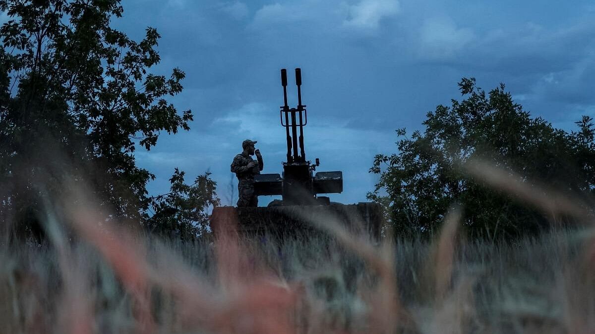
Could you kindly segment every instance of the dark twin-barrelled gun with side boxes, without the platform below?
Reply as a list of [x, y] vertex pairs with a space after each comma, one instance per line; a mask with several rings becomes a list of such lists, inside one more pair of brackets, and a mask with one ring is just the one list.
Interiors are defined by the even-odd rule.
[[[260, 174], [254, 177], [254, 191], [258, 196], [281, 195], [283, 200], [273, 201], [273, 205], [312, 205], [330, 204], [326, 196], [318, 194], [341, 193], [343, 172], [317, 172], [320, 160], [315, 163], [306, 160], [303, 144], [303, 127], [308, 124], [308, 111], [302, 105], [302, 70], [296, 68], [297, 108], [287, 104], [287, 70], [281, 70], [284, 105], [280, 107], [281, 126], [285, 128], [287, 140], [287, 161], [283, 162], [283, 174]], [[297, 130], [299, 128], [299, 136]]]

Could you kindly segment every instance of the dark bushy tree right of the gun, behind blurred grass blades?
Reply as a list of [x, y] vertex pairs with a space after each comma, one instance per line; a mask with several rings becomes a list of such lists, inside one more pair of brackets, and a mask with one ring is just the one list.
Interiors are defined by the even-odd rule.
[[[425, 130], [406, 137], [398, 153], [377, 155], [370, 172], [379, 174], [370, 200], [387, 207], [387, 218], [402, 235], [431, 234], [453, 204], [464, 207], [464, 226], [472, 235], [509, 237], [536, 232], [548, 218], [511, 196], [483, 185], [459, 166], [480, 159], [521, 176], [547, 181], [556, 190], [595, 194], [595, 129], [589, 116], [567, 133], [544, 119], [531, 118], [513, 102], [505, 85], [488, 94], [463, 78], [466, 99], [451, 100], [428, 112]], [[563, 218], [568, 219], [568, 218]]]

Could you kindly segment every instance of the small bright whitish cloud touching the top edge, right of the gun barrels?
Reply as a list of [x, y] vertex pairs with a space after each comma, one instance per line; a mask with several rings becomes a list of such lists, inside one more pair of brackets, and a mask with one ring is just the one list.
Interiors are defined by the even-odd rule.
[[345, 26], [358, 29], [378, 29], [383, 18], [392, 17], [400, 11], [397, 0], [362, 0], [349, 5]]

